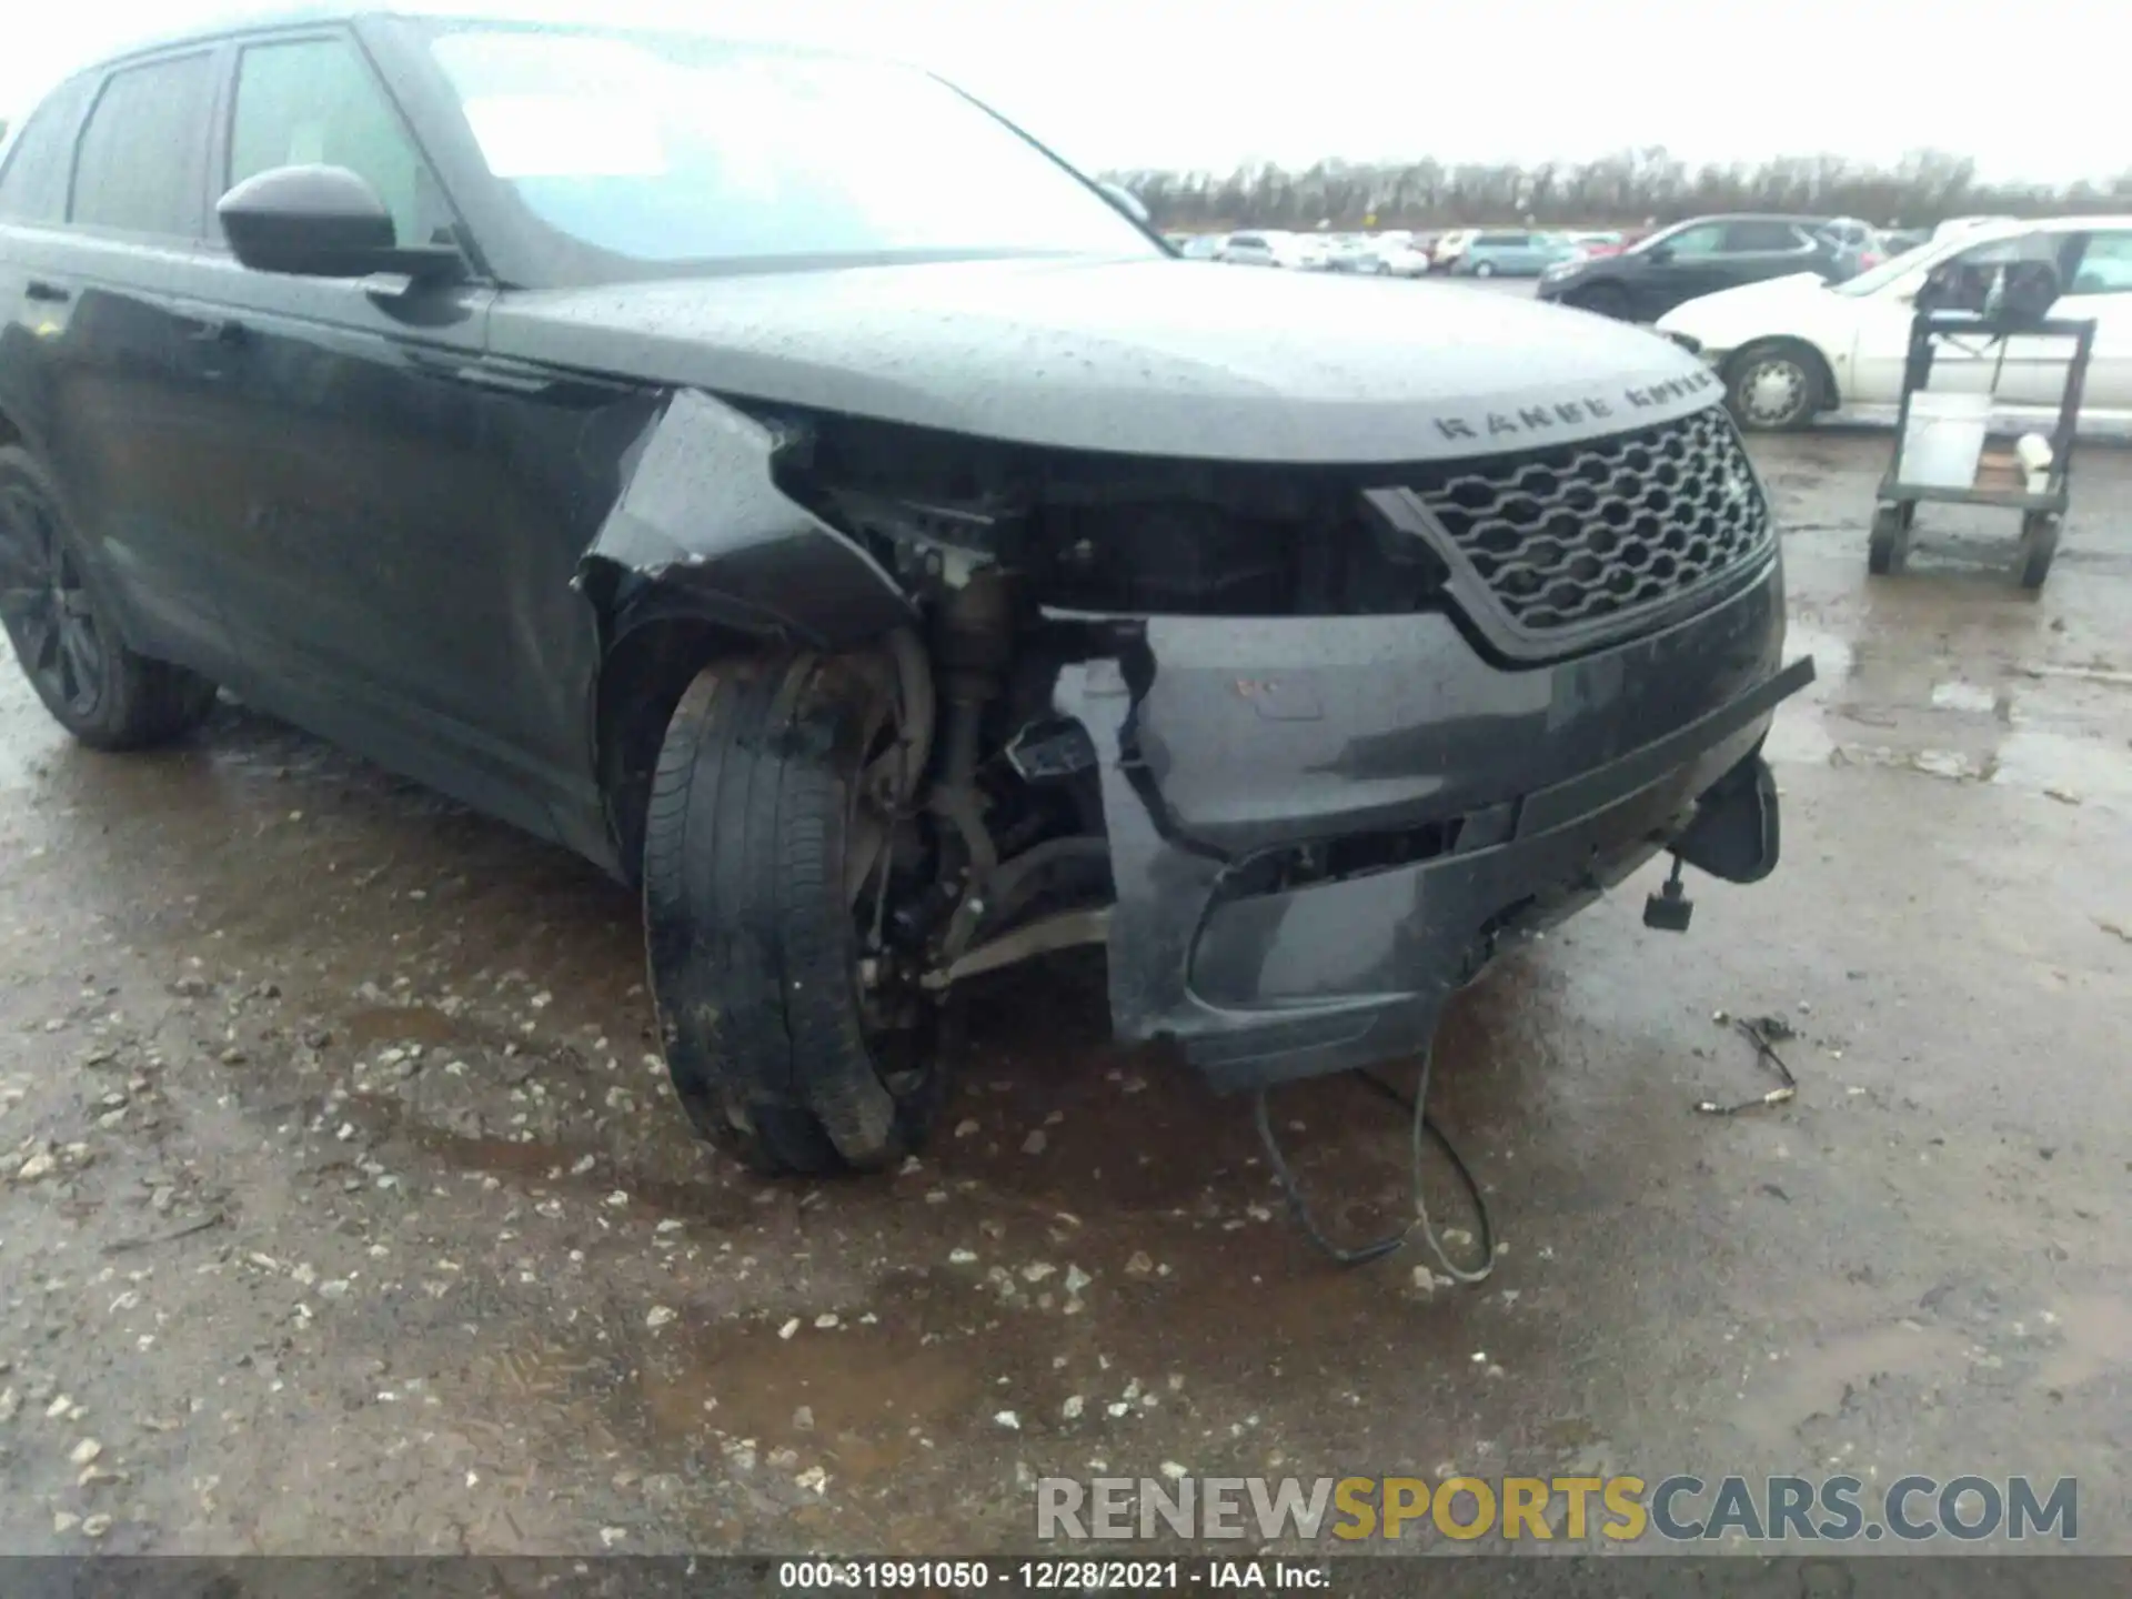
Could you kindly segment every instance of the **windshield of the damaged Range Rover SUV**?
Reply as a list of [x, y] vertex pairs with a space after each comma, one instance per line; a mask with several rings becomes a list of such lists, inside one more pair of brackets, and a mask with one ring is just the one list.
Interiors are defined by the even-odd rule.
[[527, 211], [633, 262], [1162, 254], [1043, 149], [912, 68], [456, 23], [429, 49]]

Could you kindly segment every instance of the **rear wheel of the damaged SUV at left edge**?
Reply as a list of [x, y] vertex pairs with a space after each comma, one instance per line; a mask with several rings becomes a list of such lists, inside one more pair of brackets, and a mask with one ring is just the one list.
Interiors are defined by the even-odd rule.
[[58, 490], [19, 446], [0, 448], [0, 623], [45, 710], [90, 748], [166, 744], [215, 706], [207, 678], [126, 648]]

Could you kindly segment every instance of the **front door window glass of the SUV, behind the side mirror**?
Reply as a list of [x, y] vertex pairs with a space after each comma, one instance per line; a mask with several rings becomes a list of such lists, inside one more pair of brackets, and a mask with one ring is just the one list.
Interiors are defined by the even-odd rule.
[[345, 166], [377, 190], [403, 245], [437, 243], [450, 222], [414, 136], [352, 41], [247, 45], [237, 66], [230, 185], [313, 164]]

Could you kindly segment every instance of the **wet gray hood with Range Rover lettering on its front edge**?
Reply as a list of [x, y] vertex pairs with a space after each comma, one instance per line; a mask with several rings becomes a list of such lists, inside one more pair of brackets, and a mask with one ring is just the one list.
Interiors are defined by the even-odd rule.
[[1205, 461], [1527, 450], [1695, 411], [1642, 328], [1443, 284], [987, 260], [512, 290], [490, 352], [727, 399]]

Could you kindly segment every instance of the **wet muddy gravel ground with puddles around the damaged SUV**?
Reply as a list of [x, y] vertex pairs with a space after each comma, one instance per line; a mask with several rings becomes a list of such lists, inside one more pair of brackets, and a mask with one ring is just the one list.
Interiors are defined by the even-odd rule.
[[[1776, 878], [1676, 938], [1652, 870], [1445, 1025], [1480, 1290], [1313, 1256], [1085, 966], [974, 998], [904, 1173], [753, 1179], [620, 889], [237, 706], [79, 750], [0, 672], [0, 1548], [1015, 1548], [1034, 1475], [1175, 1463], [2077, 1475], [2132, 1550], [2132, 454], [2032, 597], [2006, 516], [1868, 582], [1885, 452], [1757, 446], [1821, 665]], [[1693, 1111], [1767, 1087], [1721, 1011], [1797, 1030], [1793, 1104]], [[1275, 1115], [1328, 1222], [1399, 1215], [1394, 1109]]]

